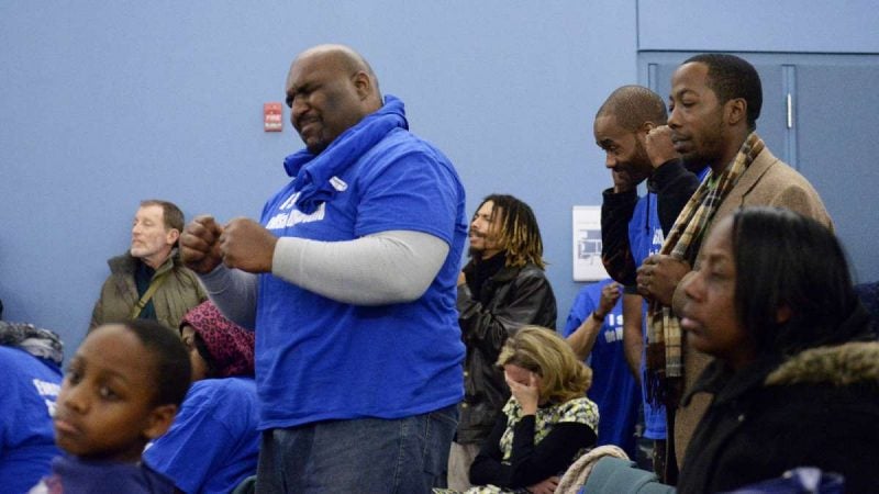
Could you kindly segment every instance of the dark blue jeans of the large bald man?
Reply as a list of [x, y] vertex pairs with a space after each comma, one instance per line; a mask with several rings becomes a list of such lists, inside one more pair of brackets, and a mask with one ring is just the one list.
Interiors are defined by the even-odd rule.
[[430, 493], [444, 487], [457, 406], [263, 433], [256, 492]]

